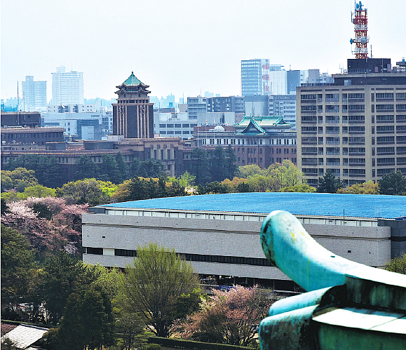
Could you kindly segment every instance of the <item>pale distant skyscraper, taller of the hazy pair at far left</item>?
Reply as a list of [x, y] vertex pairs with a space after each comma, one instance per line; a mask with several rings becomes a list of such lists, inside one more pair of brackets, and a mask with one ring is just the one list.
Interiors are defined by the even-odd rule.
[[83, 73], [65, 72], [65, 67], [57, 67], [52, 74], [52, 104], [83, 104]]

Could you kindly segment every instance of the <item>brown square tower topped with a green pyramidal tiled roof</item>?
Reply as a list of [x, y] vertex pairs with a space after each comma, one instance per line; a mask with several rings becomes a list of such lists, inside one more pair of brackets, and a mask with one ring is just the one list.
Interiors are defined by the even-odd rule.
[[131, 72], [121, 85], [117, 103], [113, 104], [113, 135], [126, 138], [154, 137], [154, 103], [149, 102], [149, 85], [142, 83]]

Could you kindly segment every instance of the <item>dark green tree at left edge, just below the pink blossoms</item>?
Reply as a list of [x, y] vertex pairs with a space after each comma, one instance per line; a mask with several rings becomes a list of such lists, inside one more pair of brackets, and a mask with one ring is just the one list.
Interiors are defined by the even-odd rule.
[[27, 301], [34, 269], [29, 241], [14, 229], [1, 225], [1, 309]]

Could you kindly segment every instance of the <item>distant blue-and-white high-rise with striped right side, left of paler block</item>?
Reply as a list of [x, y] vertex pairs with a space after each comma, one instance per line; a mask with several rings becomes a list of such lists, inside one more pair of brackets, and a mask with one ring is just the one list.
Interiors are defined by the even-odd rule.
[[241, 61], [241, 95], [269, 95], [269, 60]]

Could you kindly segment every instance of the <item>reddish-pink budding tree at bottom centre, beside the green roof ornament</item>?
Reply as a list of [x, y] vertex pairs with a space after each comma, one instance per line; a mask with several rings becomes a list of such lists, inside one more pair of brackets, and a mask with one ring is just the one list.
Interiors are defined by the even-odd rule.
[[180, 325], [183, 338], [201, 342], [250, 346], [257, 325], [273, 300], [257, 289], [234, 285], [229, 291], [213, 290], [215, 295], [203, 309]]

